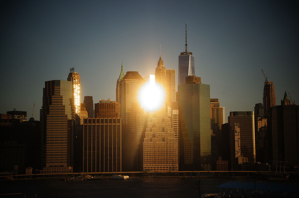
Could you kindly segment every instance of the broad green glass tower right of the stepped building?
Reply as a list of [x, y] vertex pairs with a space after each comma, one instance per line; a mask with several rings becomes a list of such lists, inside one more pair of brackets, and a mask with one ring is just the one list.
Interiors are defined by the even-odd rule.
[[210, 85], [186, 77], [179, 85], [180, 170], [208, 170], [211, 164]]

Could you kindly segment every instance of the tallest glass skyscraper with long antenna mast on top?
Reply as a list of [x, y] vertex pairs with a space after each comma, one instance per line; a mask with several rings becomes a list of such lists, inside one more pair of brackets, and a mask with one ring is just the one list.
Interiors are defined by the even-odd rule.
[[187, 23], [186, 23], [186, 44], [185, 51], [179, 55], [179, 84], [183, 85], [186, 83], [187, 76], [194, 76], [194, 56], [192, 52], [188, 52], [187, 49]]

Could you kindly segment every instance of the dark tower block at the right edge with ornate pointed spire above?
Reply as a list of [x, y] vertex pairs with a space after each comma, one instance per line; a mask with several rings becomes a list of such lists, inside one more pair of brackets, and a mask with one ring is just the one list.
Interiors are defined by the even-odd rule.
[[270, 108], [268, 117], [270, 135], [269, 160], [299, 165], [299, 106], [289, 100], [286, 92], [281, 105]]

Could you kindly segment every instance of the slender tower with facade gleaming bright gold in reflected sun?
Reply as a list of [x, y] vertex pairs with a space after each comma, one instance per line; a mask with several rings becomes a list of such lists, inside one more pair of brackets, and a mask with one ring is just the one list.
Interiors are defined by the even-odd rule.
[[73, 103], [75, 106], [75, 114], [80, 115], [80, 93], [81, 93], [81, 78], [79, 73], [75, 72], [74, 67], [70, 69], [68, 81], [73, 83]]

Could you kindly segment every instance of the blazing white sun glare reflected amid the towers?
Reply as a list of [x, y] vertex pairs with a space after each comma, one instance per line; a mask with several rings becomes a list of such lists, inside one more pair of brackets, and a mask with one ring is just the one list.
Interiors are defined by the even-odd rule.
[[165, 90], [155, 83], [155, 75], [149, 75], [149, 82], [141, 87], [139, 102], [146, 110], [160, 108], [165, 100]]

